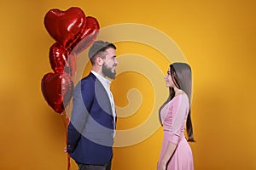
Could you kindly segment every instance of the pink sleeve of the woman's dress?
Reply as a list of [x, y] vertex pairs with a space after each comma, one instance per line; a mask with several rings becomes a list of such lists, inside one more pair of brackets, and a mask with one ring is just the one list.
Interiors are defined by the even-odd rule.
[[177, 144], [180, 136], [183, 135], [184, 125], [189, 111], [189, 99], [186, 95], [180, 94], [173, 100], [172, 105], [169, 107], [168, 116], [171, 120], [169, 141], [172, 144]]

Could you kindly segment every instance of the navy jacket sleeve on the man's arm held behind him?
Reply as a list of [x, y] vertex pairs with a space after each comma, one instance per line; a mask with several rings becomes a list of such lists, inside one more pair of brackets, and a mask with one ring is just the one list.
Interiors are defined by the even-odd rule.
[[79, 82], [73, 93], [73, 111], [67, 127], [67, 152], [75, 150], [94, 99], [94, 86], [90, 82]]

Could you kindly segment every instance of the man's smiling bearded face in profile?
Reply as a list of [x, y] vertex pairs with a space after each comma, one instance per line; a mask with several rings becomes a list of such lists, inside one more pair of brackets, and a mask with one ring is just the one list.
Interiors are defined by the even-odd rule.
[[104, 63], [102, 65], [102, 73], [111, 79], [114, 79], [116, 72], [115, 66], [118, 65], [118, 61], [116, 59], [115, 49], [108, 48], [106, 50], [107, 55], [104, 59]]

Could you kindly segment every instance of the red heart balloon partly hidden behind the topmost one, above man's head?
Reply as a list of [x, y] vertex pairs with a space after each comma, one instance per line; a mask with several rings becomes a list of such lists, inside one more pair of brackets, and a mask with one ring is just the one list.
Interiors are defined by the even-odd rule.
[[87, 16], [86, 17], [86, 26], [81, 37], [73, 43], [73, 54], [80, 54], [84, 49], [88, 48], [92, 42], [95, 41], [99, 33], [99, 23], [96, 18]]

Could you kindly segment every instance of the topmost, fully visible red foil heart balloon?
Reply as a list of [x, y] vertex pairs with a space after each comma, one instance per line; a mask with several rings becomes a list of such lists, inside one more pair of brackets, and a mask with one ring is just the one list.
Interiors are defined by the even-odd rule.
[[66, 11], [50, 9], [44, 17], [44, 26], [49, 35], [64, 48], [73, 45], [84, 31], [86, 17], [80, 8], [72, 7]]

